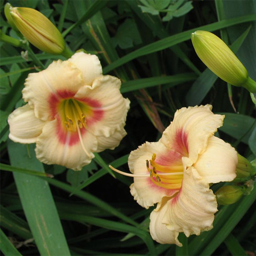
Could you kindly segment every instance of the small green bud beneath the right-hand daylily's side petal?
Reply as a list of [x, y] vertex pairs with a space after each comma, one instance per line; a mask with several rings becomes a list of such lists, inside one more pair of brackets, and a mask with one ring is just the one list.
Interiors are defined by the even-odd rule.
[[215, 192], [218, 204], [234, 204], [244, 194], [244, 187], [227, 185]]

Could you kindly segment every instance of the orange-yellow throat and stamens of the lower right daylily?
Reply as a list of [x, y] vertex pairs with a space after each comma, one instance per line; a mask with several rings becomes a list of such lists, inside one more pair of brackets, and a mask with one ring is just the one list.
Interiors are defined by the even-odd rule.
[[151, 160], [146, 160], [151, 181], [165, 189], [180, 189], [183, 179], [183, 165], [160, 165], [155, 162], [155, 159], [156, 154], [153, 154]]

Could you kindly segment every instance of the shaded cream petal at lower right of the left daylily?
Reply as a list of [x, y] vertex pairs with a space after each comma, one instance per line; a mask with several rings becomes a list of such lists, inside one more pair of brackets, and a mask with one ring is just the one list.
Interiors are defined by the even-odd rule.
[[114, 149], [120, 144], [120, 141], [125, 135], [126, 135], [126, 131], [124, 128], [122, 128], [121, 130], [116, 130], [116, 132], [109, 137], [97, 136], [97, 141], [98, 141], [97, 152], [101, 152], [105, 149]]

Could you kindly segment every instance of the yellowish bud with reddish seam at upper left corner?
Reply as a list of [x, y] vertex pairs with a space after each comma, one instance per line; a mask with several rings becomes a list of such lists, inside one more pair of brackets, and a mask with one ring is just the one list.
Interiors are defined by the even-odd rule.
[[65, 42], [52, 22], [41, 12], [26, 7], [9, 7], [15, 26], [38, 49], [51, 54], [62, 54]]

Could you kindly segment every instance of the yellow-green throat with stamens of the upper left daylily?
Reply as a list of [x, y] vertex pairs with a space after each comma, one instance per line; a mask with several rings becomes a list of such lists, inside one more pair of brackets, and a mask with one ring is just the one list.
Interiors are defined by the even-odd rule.
[[64, 124], [69, 131], [86, 128], [86, 118], [82, 111], [82, 103], [74, 99], [64, 101]]

